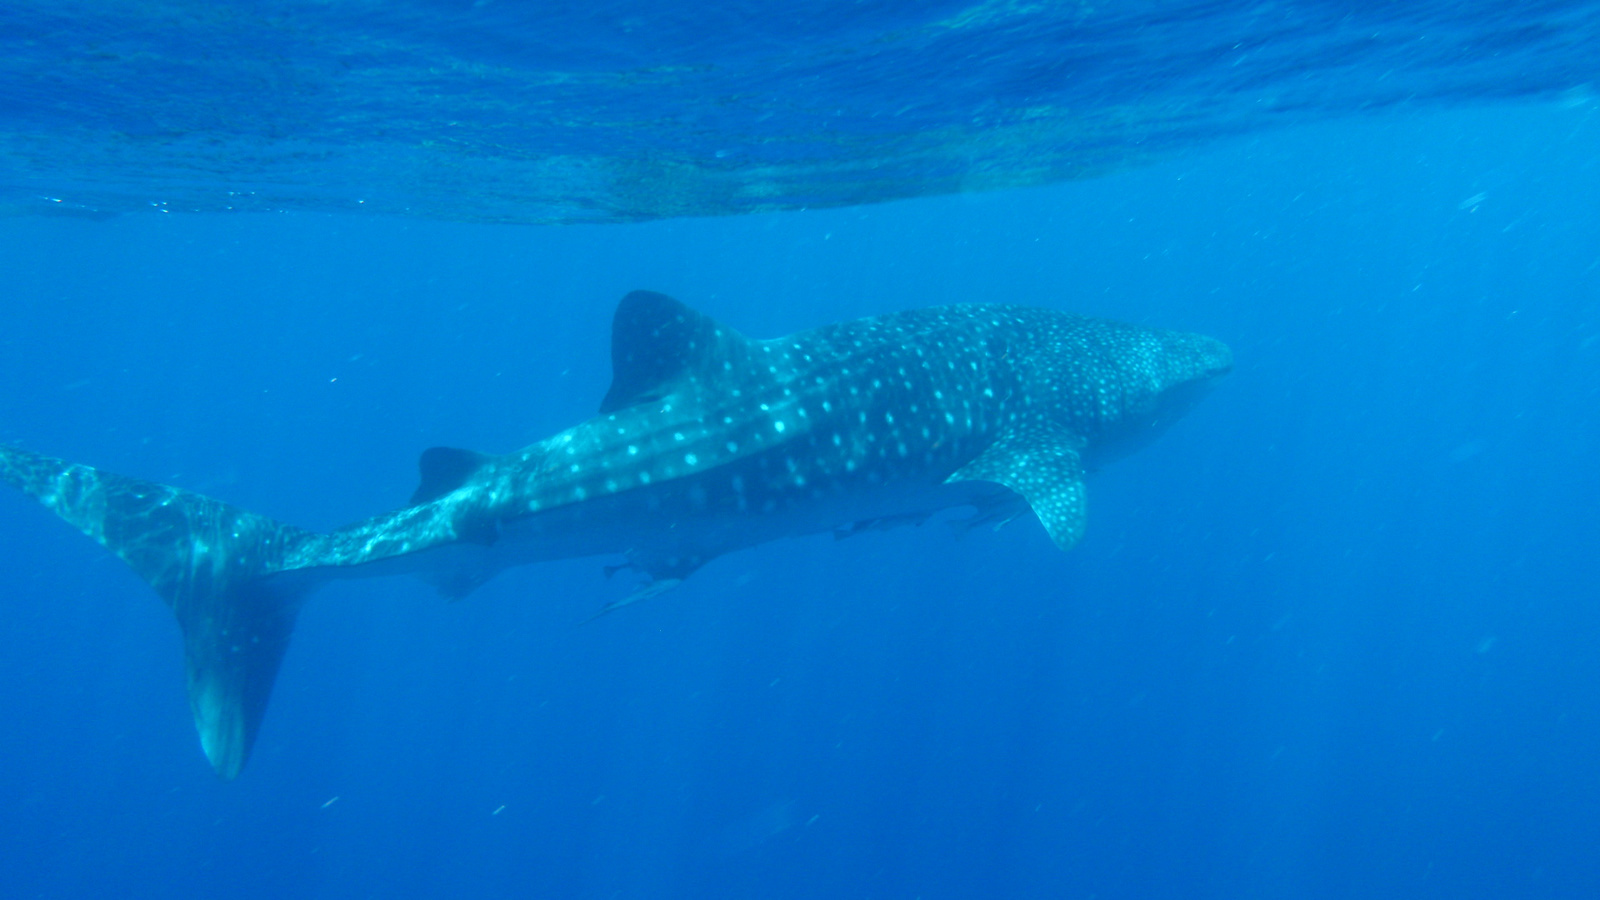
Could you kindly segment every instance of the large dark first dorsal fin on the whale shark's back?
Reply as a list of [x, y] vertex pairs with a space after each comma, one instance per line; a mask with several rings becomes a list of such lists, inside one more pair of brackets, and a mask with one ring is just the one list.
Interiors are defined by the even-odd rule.
[[685, 376], [739, 367], [750, 340], [664, 293], [637, 290], [611, 319], [611, 389], [600, 412], [611, 413], [670, 394]]

